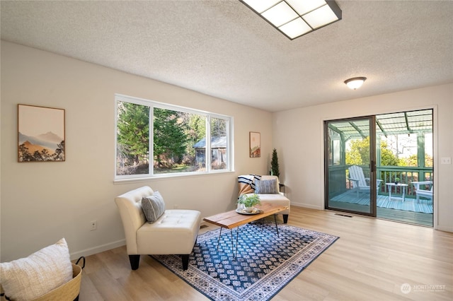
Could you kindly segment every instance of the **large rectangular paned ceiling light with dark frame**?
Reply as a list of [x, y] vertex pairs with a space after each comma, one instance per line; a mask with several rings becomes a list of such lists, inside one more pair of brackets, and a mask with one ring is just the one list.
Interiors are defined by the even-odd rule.
[[333, 0], [239, 0], [289, 40], [341, 20]]

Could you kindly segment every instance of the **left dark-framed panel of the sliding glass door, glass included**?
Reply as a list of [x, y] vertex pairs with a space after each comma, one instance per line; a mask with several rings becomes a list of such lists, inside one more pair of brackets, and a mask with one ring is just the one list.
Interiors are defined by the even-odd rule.
[[376, 216], [375, 117], [324, 122], [326, 208]]

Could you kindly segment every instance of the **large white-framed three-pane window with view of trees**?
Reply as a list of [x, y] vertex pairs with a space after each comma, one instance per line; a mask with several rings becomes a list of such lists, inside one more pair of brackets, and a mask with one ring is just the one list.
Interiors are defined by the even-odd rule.
[[231, 117], [124, 95], [115, 103], [115, 179], [232, 169]]

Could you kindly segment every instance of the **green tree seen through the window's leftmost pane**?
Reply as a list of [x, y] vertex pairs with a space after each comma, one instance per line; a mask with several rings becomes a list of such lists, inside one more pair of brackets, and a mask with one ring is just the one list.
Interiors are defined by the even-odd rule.
[[125, 165], [137, 165], [149, 153], [149, 107], [118, 102], [118, 155], [127, 158]]

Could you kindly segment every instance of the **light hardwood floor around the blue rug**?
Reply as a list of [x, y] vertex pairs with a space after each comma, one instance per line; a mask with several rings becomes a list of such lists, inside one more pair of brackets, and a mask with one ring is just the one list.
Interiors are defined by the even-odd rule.
[[[453, 300], [453, 233], [351, 216], [292, 206], [289, 225], [340, 239], [273, 301]], [[149, 256], [131, 271], [119, 247], [86, 257], [79, 300], [208, 299]]]

